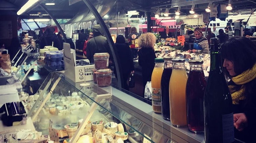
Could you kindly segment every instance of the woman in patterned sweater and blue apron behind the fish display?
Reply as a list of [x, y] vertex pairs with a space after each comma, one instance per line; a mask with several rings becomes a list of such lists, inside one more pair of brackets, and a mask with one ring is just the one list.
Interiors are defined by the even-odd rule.
[[203, 36], [203, 31], [201, 28], [196, 27], [194, 30], [194, 35], [196, 36], [196, 39], [194, 41], [194, 48], [193, 50], [188, 50], [188, 53], [196, 53], [196, 54], [201, 54], [209, 53], [209, 45], [208, 45], [208, 40]]

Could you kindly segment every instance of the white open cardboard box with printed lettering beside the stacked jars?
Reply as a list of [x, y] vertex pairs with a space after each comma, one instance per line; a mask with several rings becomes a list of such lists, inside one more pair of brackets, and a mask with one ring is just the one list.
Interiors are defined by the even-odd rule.
[[[93, 80], [94, 65], [75, 66], [74, 52], [71, 52], [70, 44], [63, 43], [63, 59], [65, 65], [65, 77], [68, 77], [74, 82], [84, 82]], [[88, 59], [85, 61], [89, 62]]]

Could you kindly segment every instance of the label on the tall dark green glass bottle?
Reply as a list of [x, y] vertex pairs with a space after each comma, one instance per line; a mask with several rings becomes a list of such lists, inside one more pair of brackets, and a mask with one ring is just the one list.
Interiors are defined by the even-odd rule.
[[233, 113], [222, 115], [223, 143], [232, 143], [234, 136]]

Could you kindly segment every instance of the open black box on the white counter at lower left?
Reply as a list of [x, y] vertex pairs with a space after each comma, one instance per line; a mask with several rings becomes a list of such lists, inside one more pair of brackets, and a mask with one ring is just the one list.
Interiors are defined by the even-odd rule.
[[5, 114], [3, 115], [3, 122], [7, 126], [14, 126], [14, 125], [24, 125], [27, 124], [27, 113], [25, 111], [24, 105], [22, 102], [16, 102], [18, 105], [19, 114], [10, 115], [8, 112], [8, 107], [11, 103], [5, 103], [0, 108], [1, 111], [4, 111]]

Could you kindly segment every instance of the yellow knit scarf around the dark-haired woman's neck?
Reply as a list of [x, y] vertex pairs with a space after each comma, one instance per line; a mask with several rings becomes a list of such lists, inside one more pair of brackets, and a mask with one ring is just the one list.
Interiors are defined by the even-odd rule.
[[[240, 100], [245, 100], [245, 96], [242, 93], [245, 91], [244, 84], [252, 81], [256, 77], [256, 63], [253, 65], [251, 69], [248, 69], [238, 76], [232, 77], [232, 81], [237, 85], [242, 85], [242, 87], [238, 90], [233, 92], [231, 90], [232, 102], [233, 104], [239, 104]], [[229, 89], [232, 89], [234, 86], [228, 86]]]

